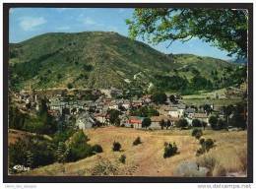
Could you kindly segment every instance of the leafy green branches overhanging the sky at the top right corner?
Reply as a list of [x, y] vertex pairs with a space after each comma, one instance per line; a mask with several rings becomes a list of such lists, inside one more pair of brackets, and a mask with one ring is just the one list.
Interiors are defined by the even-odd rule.
[[126, 21], [132, 38], [153, 43], [198, 37], [228, 55], [247, 56], [248, 13], [242, 9], [137, 8]]

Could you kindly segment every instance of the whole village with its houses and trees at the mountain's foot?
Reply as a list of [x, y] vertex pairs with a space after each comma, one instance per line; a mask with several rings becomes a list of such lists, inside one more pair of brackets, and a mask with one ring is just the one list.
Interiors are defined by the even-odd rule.
[[[14, 98], [23, 111], [36, 112], [39, 110], [39, 99], [46, 96], [48, 113], [57, 122], [66, 123], [76, 129], [109, 125], [143, 129], [143, 121], [146, 117], [151, 120], [147, 125], [150, 130], [174, 128], [180, 120], [186, 120], [185, 125], [188, 127], [192, 126], [193, 120], [197, 120], [204, 129], [210, 129], [209, 117], [213, 112], [224, 120], [223, 109], [213, 103], [200, 106], [188, 105], [183, 102], [181, 95], [168, 96], [161, 104], [154, 101], [152, 95], [131, 99], [116, 97], [122, 93], [121, 90], [114, 88], [103, 91], [30, 90], [14, 94]], [[138, 110], [143, 108], [146, 111], [150, 109], [149, 111], [154, 113], [138, 114]], [[112, 117], [110, 112], [115, 112]]]

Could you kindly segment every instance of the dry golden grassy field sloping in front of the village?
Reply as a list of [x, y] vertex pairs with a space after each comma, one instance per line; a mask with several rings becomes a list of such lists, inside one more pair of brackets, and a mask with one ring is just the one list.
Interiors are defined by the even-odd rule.
[[[204, 162], [215, 158], [217, 163], [214, 176], [220, 176], [224, 169], [238, 176], [245, 176], [246, 166], [246, 131], [204, 131], [204, 138], [216, 140], [216, 147], [204, 156], [196, 157], [200, 145], [191, 137], [191, 130], [142, 131], [129, 128], [105, 127], [86, 130], [91, 144], [99, 144], [103, 153], [76, 162], [54, 163], [27, 172], [29, 175], [133, 175], [133, 176], [172, 176], [177, 166], [184, 161]], [[141, 137], [142, 144], [133, 146], [136, 137]], [[122, 145], [121, 152], [112, 152], [112, 143]], [[175, 142], [178, 155], [162, 158], [164, 142]], [[126, 162], [118, 159], [126, 156]]]

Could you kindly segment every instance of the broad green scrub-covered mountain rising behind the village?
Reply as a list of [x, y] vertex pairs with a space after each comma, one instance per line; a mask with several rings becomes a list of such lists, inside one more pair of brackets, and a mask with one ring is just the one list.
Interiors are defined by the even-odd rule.
[[[188, 79], [195, 70], [212, 80], [234, 65], [192, 54], [163, 54], [116, 32], [45, 33], [10, 43], [11, 86], [18, 89], [124, 89], [156, 83], [156, 76], [177, 73]], [[138, 82], [138, 80], [140, 80]]]

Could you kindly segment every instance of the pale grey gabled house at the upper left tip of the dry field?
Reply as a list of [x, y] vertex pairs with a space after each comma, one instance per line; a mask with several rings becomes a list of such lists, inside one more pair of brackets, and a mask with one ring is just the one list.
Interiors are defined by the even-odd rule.
[[89, 129], [92, 128], [96, 124], [95, 119], [88, 112], [82, 112], [77, 116], [76, 126], [79, 129]]

